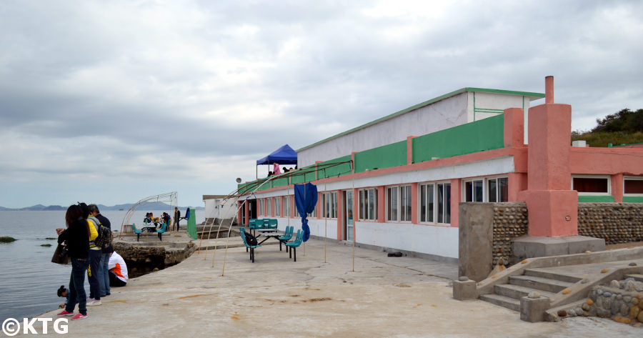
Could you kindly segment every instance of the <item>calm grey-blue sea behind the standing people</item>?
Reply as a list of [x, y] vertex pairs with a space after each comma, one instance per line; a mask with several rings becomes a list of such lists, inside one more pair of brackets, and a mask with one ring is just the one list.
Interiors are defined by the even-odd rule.
[[[126, 211], [106, 211], [102, 214], [111, 222], [111, 229], [121, 229]], [[136, 212], [131, 221], [143, 222], [146, 211]], [[154, 211], [155, 216], [162, 213]], [[184, 210], [181, 210], [181, 214]], [[158, 215], [157, 215], [158, 214]], [[204, 211], [196, 210], [196, 224], [204, 221]], [[181, 222], [184, 227], [185, 221]], [[35, 317], [57, 309], [64, 299], [56, 290], [69, 284], [71, 265], [51, 263], [56, 249], [56, 228], [65, 227], [65, 212], [6, 212], [0, 211], [0, 237], [18, 239], [0, 243], [0, 322], [6, 318]], [[41, 247], [51, 244], [51, 247]], [[89, 294], [89, 283], [85, 278]]]

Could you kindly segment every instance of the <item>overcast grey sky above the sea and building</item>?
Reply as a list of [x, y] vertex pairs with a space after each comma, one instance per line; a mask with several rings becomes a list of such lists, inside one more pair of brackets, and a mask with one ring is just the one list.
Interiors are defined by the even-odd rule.
[[572, 129], [591, 129], [643, 108], [642, 13], [643, 1], [2, 0], [0, 206], [177, 191], [199, 207], [283, 144], [467, 86], [544, 92], [547, 75]]

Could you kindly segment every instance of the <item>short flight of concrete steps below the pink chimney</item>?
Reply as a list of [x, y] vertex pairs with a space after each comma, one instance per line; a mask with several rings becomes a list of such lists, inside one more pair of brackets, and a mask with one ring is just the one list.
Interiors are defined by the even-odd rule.
[[520, 299], [527, 296], [529, 292], [537, 291], [542, 297], [549, 298], [580, 279], [541, 269], [525, 269], [524, 274], [509, 277], [509, 284], [495, 285], [493, 294], [483, 294], [480, 299], [520, 311]]

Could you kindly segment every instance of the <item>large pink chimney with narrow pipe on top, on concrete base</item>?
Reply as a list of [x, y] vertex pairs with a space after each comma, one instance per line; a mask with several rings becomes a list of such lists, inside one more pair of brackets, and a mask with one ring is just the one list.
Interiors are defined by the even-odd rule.
[[554, 104], [554, 79], [545, 79], [547, 103], [529, 109], [527, 191], [519, 199], [529, 209], [529, 235], [578, 234], [578, 193], [570, 190], [569, 151], [572, 106]]

